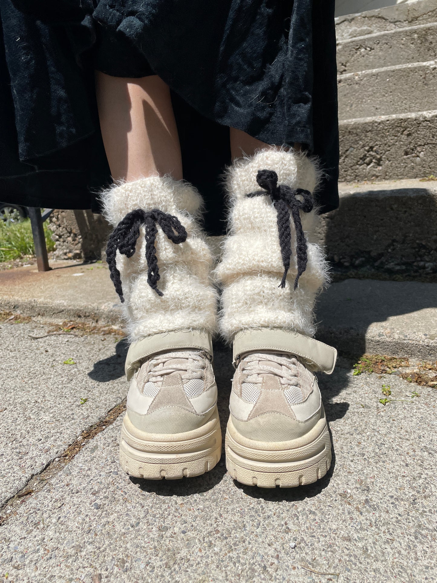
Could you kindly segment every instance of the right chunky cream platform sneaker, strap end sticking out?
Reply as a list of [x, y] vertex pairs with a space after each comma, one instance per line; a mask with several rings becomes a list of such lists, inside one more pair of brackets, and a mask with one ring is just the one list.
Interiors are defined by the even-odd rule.
[[283, 330], [240, 332], [234, 340], [226, 467], [249, 486], [311, 484], [331, 463], [325, 410], [313, 373], [332, 373], [336, 350]]

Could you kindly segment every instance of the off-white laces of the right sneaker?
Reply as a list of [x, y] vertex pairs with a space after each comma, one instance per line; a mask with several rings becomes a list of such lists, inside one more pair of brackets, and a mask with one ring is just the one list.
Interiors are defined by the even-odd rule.
[[[269, 363], [276, 363], [279, 367], [270, 366]], [[258, 384], [263, 382], [264, 374], [273, 374], [280, 378], [283, 385], [299, 384], [297, 378], [298, 361], [290, 356], [277, 356], [277, 354], [249, 354], [243, 359], [242, 373], [246, 374], [243, 382]]]

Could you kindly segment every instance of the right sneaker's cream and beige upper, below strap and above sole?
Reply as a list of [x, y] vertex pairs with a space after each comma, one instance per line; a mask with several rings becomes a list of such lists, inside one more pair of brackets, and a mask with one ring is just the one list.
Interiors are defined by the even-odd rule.
[[238, 363], [229, 408], [242, 436], [289, 441], [315, 426], [323, 405], [316, 376], [295, 356], [256, 352]]

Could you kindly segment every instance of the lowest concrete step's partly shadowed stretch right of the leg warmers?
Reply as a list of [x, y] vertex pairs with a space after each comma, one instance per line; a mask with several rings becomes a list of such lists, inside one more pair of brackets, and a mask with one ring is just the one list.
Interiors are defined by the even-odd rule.
[[316, 338], [342, 354], [437, 359], [437, 284], [348, 279], [320, 296]]

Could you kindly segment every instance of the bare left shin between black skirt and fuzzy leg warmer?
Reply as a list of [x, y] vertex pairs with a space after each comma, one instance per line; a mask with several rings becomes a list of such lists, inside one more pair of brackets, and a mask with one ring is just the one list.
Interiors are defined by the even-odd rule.
[[157, 75], [129, 79], [97, 71], [96, 94], [112, 178], [171, 174], [181, 180], [181, 147], [164, 81]]

